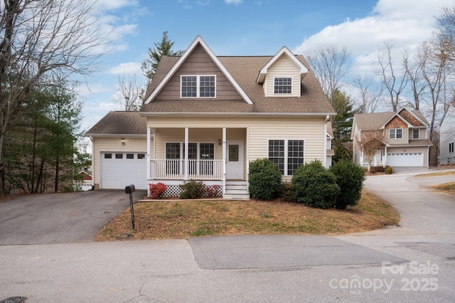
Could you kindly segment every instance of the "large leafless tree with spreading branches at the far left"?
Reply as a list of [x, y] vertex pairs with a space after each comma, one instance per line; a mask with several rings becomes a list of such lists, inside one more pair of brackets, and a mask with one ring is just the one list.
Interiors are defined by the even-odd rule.
[[[4, 0], [0, 4], [0, 172], [4, 138], [33, 87], [99, 69], [104, 33], [90, 0]], [[4, 189], [1, 178], [0, 189]]]

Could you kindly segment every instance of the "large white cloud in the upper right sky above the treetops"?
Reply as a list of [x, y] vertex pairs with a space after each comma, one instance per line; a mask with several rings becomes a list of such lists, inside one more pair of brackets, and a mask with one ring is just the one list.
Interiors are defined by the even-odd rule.
[[379, 0], [372, 14], [353, 21], [327, 26], [305, 38], [295, 53], [306, 53], [325, 46], [346, 46], [353, 55], [365, 55], [384, 41], [394, 41], [397, 48], [415, 46], [429, 38], [446, 0]]

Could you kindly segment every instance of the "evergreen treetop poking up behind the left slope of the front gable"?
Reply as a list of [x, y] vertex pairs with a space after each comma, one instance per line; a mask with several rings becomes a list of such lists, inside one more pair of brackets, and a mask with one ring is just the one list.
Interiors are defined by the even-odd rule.
[[173, 43], [171, 39], [168, 37], [168, 32], [163, 32], [163, 38], [161, 39], [161, 43], [154, 43], [155, 48], [149, 48], [149, 58], [144, 60], [142, 63], [141, 69], [144, 72], [144, 75], [147, 78], [148, 83], [151, 82], [151, 79], [154, 78], [156, 68], [158, 67], [158, 63], [161, 60], [161, 57], [164, 55], [181, 55], [183, 53], [182, 50], [173, 51], [172, 46]]

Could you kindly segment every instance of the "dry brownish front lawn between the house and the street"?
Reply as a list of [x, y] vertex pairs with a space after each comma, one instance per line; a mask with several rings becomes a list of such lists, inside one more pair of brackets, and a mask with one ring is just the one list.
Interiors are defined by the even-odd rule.
[[321, 210], [280, 201], [162, 201], [134, 205], [132, 230], [129, 208], [95, 237], [170, 239], [204, 235], [355, 233], [396, 225], [400, 216], [392, 206], [367, 191], [348, 211]]

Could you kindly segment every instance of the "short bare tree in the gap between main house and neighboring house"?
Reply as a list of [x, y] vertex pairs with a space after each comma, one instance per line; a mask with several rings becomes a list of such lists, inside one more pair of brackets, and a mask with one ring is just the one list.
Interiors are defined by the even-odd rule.
[[384, 88], [375, 87], [374, 80], [371, 77], [358, 77], [353, 80], [353, 85], [360, 93], [360, 100], [357, 112], [368, 114], [378, 110]]

